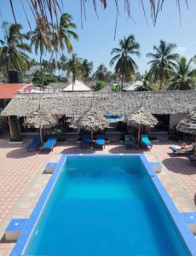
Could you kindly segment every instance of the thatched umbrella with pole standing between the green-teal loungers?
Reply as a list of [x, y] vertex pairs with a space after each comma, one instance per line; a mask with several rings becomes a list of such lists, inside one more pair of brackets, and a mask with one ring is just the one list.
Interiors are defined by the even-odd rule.
[[141, 125], [147, 125], [153, 127], [158, 124], [158, 119], [156, 119], [150, 111], [145, 108], [140, 108], [134, 113], [130, 113], [125, 116], [126, 122], [138, 124], [138, 145], [140, 143], [140, 128]]

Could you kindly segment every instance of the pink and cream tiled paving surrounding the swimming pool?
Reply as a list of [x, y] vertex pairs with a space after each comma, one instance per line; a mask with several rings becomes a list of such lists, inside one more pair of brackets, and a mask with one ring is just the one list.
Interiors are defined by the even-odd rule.
[[[57, 162], [62, 153], [140, 153], [124, 149], [122, 143], [108, 144], [95, 152], [79, 148], [78, 143], [61, 143], [53, 153], [28, 153], [26, 144], [9, 144], [0, 139], [0, 236], [10, 218], [28, 218], [41, 195], [49, 174], [42, 174], [47, 162]], [[196, 210], [196, 166], [185, 157], [170, 157], [170, 143], [156, 143], [145, 152], [150, 161], [163, 163], [159, 178], [181, 212]], [[0, 242], [0, 256], [9, 255], [14, 243]]]

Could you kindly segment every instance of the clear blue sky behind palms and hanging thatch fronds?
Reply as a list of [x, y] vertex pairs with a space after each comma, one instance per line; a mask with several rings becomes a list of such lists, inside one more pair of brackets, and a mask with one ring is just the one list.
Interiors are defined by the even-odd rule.
[[[187, 58], [196, 55], [196, 1], [188, 0], [188, 9], [185, 1], [182, 0], [182, 22], [178, 9], [176, 8], [176, 0], [165, 0], [164, 8], [159, 14], [156, 26], [150, 17], [150, 11], [147, 9], [147, 21], [143, 15], [139, 0], [132, 0], [130, 19], [124, 14], [124, 1], [119, 0], [118, 26], [116, 38], [114, 39], [116, 7], [114, 0], [108, 0], [107, 9], [101, 7], [100, 1], [97, 1], [97, 15], [93, 9], [92, 0], [86, 3], [86, 20], [83, 15], [83, 27], [81, 25], [81, 9], [79, 0], [62, 0], [64, 3], [64, 12], [72, 15], [74, 22], [77, 24], [78, 41], [72, 40], [73, 50], [81, 58], [86, 58], [94, 62], [94, 70], [101, 63], [104, 63], [109, 70], [112, 70], [109, 62], [111, 60], [111, 50], [118, 47], [119, 39], [128, 37], [130, 34], [135, 35], [135, 40], [141, 45], [141, 56], [134, 59], [139, 67], [139, 71], [144, 73], [149, 67], [146, 57], [147, 52], [151, 52], [153, 45], [159, 45], [160, 39], [166, 42], [176, 43], [176, 52]], [[146, 0], [146, 2], [149, 2]], [[14, 0], [14, 9], [16, 19], [24, 27], [24, 32], [29, 30], [26, 16], [21, 8], [20, 0]], [[12, 12], [9, 1], [4, 0], [0, 7], [0, 21], [3, 20], [13, 22]], [[26, 14], [33, 26], [33, 20], [30, 9], [26, 9]], [[3, 31], [0, 32], [0, 38], [3, 37]], [[68, 54], [65, 53], [67, 56]], [[32, 54], [32, 57], [38, 58]], [[47, 59], [49, 56], [45, 56]]]

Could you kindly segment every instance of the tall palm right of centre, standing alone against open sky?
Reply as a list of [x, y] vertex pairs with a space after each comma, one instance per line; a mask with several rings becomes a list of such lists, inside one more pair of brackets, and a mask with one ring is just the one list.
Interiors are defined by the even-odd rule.
[[121, 76], [121, 90], [123, 89], [124, 76], [128, 76], [129, 73], [135, 73], [137, 65], [131, 55], [140, 55], [140, 44], [135, 41], [134, 35], [130, 35], [128, 38], [121, 39], [119, 41], [120, 48], [113, 48], [111, 55], [115, 55], [110, 61], [110, 65], [116, 62], [115, 72]]

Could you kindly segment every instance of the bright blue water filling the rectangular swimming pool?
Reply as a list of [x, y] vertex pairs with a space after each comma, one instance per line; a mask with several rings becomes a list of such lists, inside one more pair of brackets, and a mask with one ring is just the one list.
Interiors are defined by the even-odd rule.
[[189, 255], [138, 156], [70, 156], [24, 255]]

